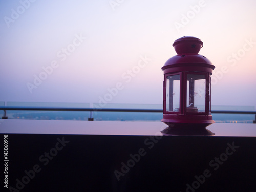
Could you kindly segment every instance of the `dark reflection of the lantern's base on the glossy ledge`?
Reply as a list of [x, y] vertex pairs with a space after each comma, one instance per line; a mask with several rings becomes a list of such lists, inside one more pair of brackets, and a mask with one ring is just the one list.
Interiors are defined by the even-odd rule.
[[206, 128], [191, 129], [189, 127], [167, 127], [161, 131], [165, 136], [212, 136], [214, 132]]

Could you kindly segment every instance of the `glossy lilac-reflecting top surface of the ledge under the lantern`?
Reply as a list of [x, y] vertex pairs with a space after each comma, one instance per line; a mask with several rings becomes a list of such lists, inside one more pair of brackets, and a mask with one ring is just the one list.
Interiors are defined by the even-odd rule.
[[[15, 134], [75, 134], [75, 135], [201, 135], [255, 137], [256, 124], [214, 123], [205, 130], [177, 130], [166, 132], [162, 122], [140, 121], [69, 121], [0, 119], [0, 133]], [[194, 129], [195, 130], [195, 129]]]

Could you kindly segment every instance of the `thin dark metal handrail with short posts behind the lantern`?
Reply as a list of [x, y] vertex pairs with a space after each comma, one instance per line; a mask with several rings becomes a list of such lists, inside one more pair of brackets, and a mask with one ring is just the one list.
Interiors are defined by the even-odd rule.
[[[53, 108], [53, 107], [16, 107], [16, 106], [0, 106], [0, 110], [4, 111], [4, 116], [2, 119], [8, 119], [6, 111], [90, 111], [89, 121], [93, 121], [92, 112], [102, 111], [102, 112], [157, 112], [163, 113], [163, 110], [160, 109], [113, 109], [113, 108]], [[221, 111], [221, 110], [212, 110], [211, 113], [220, 113], [220, 114], [255, 114], [255, 120], [253, 123], [256, 123], [256, 111]]]

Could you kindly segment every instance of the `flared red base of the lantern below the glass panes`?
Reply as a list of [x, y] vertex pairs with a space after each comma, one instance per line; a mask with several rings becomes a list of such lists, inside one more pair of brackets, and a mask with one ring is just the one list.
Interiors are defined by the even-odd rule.
[[205, 129], [205, 127], [215, 123], [212, 115], [180, 115], [180, 114], [163, 114], [161, 120], [169, 127]]

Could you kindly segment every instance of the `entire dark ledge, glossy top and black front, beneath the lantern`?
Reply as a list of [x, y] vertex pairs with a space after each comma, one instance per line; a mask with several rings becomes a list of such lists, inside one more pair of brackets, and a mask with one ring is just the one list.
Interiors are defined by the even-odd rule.
[[256, 124], [167, 127], [0, 119], [1, 191], [255, 191]]

